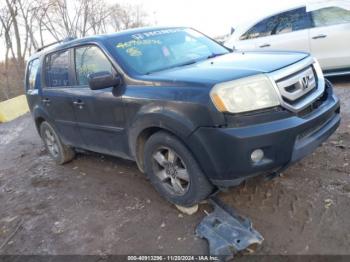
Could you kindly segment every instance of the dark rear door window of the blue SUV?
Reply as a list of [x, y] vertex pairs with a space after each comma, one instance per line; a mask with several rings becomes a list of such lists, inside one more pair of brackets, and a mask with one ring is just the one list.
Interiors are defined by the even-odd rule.
[[47, 87], [70, 86], [69, 50], [50, 54], [45, 61], [45, 80]]

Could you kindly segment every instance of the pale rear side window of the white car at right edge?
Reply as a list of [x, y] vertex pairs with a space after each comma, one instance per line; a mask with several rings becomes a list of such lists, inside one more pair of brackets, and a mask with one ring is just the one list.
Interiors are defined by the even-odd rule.
[[339, 7], [322, 8], [311, 15], [316, 27], [350, 23], [350, 11]]

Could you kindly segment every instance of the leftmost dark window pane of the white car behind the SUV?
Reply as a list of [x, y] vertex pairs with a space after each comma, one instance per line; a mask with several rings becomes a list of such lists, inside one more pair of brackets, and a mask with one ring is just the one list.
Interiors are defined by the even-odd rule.
[[278, 25], [278, 16], [266, 18], [253, 26], [247, 33], [240, 37], [241, 40], [270, 36], [275, 33]]

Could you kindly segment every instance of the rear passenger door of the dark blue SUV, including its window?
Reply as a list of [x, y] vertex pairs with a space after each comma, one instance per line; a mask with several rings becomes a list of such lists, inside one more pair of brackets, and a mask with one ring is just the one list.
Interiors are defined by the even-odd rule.
[[82, 139], [76, 125], [73, 108], [72, 50], [62, 50], [46, 55], [41, 105], [50, 117], [63, 142], [81, 147]]

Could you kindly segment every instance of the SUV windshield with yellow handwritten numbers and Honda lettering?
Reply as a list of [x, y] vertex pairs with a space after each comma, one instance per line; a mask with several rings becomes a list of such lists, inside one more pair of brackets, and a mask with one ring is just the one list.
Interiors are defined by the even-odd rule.
[[146, 31], [113, 39], [112, 44], [118, 59], [142, 75], [229, 53], [215, 41], [188, 28]]

